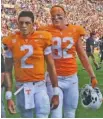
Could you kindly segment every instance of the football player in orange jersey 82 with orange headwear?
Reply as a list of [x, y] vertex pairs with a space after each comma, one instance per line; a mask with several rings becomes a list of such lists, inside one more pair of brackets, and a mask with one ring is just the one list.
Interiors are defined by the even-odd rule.
[[[64, 109], [65, 118], [74, 118], [78, 105], [78, 77], [75, 53], [77, 52], [81, 63], [88, 72], [92, 87], [97, 85], [96, 76], [83, 50], [81, 36], [85, 35], [83, 27], [78, 25], [66, 25], [66, 12], [63, 7], [55, 5], [50, 10], [52, 25], [40, 29], [52, 34], [52, 55], [54, 58], [59, 85], [59, 106], [51, 110], [52, 118], [62, 118]], [[46, 72], [47, 90], [52, 97], [52, 86], [49, 75]]]

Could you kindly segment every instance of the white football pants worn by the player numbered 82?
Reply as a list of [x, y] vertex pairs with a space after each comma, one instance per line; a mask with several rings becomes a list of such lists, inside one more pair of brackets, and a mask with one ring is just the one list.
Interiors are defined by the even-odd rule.
[[[50, 100], [53, 96], [52, 85], [48, 73], [45, 78], [47, 81], [47, 91]], [[75, 112], [78, 106], [79, 90], [77, 74], [72, 76], [58, 76], [59, 85], [59, 106], [55, 110], [51, 110], [52, 118], [62, 118], [62, 109], [64, 118], [75, 118]]]

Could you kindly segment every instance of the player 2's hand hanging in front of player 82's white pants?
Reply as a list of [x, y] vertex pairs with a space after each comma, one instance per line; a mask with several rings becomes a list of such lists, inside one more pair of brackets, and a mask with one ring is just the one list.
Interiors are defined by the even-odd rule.
[[51, 109], [56, 109], [59, 105], [59, 95], [54, 95], [51, 99]]

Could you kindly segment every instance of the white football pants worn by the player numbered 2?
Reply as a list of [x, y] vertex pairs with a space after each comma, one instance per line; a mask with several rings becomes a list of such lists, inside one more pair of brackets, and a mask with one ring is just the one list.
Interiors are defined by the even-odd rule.
[[[16, 88], [20, 88], [23, 83], [16, 82]], [[50, 101], [49, 96], [47, 94], [47, 89], [44, 81], [40, 81], [40, 83], [34, 84], [33, 90], [35, 94], [33, 95], [33, 101], [35, 104], [35, 113], [37, 118], [48, 118], [50, 113]], [[34, 117], [34, 108], [25, 109], [25, 98], [24, 98], [24, 90], [22, 89], [16, 95], [16, 104], [20, 116], [22, 118], [33, 118]], [[31, 106], [32, 107], [32, 106]]]

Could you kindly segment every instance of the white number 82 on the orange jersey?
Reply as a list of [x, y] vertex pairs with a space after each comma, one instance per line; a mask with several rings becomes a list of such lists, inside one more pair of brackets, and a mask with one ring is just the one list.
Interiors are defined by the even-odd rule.
[[[62, 49], [61, 45], [62, 42], [67, 42], [69, 41], [70, 43], [65, 49]], [[67, 51], [72, 48], [74, 45], [74, 41], [72, 37], [64, 37], [61, 39], [60, 37], [53, 37], [53, 42], [56, 42], [56, 45], [53, 45], [52, 50], [55, 51], [57, 50], [57, 54], [53, 53], [54, 59], [60, 59], [60, 58], [72, 58], [72, 54], [69, 54]]]

